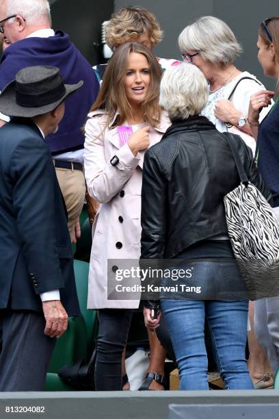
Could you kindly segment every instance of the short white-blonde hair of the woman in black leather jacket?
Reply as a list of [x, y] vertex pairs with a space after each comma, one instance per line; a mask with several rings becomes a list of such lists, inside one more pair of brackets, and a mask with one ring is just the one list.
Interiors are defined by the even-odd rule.
[[163, 73], [159, 105], [168, 112], [170, 120], [199, 114], [208, 98], [207, 80], [194, 64], [183, 62]]

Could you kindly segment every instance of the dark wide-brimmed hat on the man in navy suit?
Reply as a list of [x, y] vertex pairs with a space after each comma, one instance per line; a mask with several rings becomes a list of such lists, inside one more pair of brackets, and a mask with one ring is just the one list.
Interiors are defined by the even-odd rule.
[[0, 94], [0, 111], [8, 116], [47, 114], [83, 85], [64, 84], [59, 68], [31, 66], [22, 68]]

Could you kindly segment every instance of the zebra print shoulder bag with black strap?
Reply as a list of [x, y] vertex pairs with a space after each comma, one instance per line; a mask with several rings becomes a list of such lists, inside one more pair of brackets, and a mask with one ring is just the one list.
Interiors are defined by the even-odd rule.
[[279, 296], [279, 220], [249, 180], [235, 138], [226, 133], [240, 185], [224, 196], [228, 236], [250, 300]]

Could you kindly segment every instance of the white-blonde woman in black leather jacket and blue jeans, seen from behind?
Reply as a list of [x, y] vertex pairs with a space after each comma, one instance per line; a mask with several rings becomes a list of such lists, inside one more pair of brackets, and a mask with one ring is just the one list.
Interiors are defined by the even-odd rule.
[[[207, 99], [207, 81], [196, 66], [181, 64], [165, 71], [159, 103], [172, 126], [145, 155], [141, 258], [172, 259], [175, 268], [191, 271], [182, 285], [201, 287], [200, 294], [161, 299], [181, 390], [209, 389], [205, 318], [226, 389], [253, 389], [245, 361], [248, 300], [243, 299], [245, 285], [224, 212], [224, 196], [240, 180], [226, 135], [199, 115]], [[235, 142], [250, 181], [270, 199], [252, 151], [239, 136]], [[152, 320], [150, 312], [145, 309], [146, 324], [156, 328], [159, 320]]]

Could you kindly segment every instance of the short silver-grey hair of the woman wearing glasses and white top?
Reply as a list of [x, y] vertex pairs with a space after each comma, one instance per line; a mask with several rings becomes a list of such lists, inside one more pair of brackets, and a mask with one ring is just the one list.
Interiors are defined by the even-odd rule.
[[182, 53], [199, 51], [211, 64], [229, 66], [242, 49], [230, 27], [213, 16], [203, 16], [183, 29], [178, 38]]

